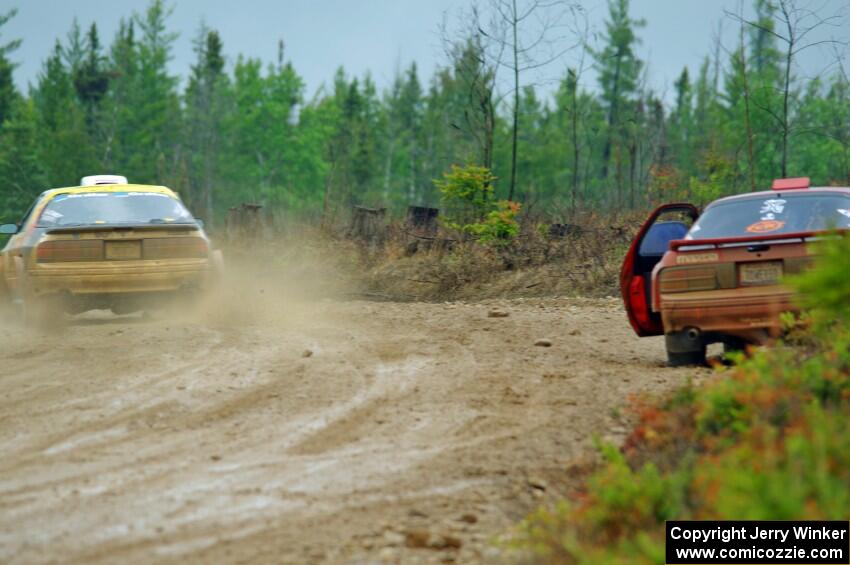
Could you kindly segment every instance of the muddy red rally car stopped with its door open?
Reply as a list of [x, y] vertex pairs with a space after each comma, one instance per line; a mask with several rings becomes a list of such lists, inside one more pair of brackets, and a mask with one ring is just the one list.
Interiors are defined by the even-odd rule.
[[670, 365], [705, 362], [706, 346], [764, 344], [795, 311], [782, 277], [812, 260], [812, 243], [850, 229], [850, 188], [778, 179], [773, 190], [721, 198], [700, 214], [666, 204], [643, 224], [620, 272], [629, 322], [664, 335]]

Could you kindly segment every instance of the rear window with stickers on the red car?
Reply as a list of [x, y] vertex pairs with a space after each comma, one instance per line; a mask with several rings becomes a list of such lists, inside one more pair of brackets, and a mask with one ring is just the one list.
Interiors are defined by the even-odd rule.
[[850, 228], [850, 197], [835, 193], [771, 194], [709, 206], [685, 239], [745, 237]]

